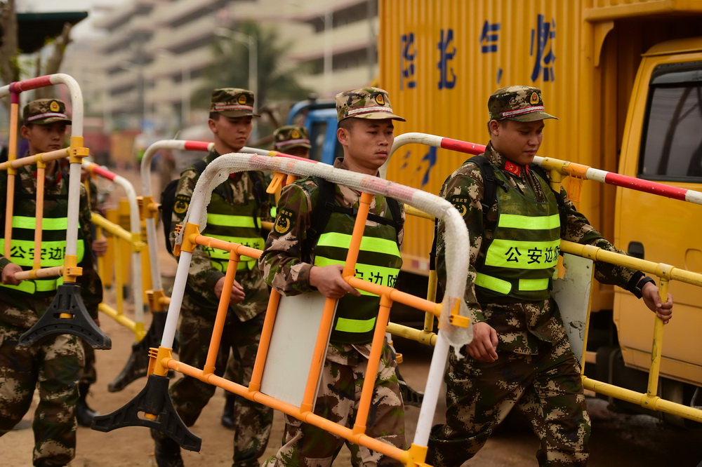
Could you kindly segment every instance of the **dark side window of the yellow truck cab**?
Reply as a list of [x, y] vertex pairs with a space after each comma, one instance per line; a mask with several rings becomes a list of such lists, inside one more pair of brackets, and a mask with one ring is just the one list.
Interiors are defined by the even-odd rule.
[[702, 180], [702, 63], [654, 71], [642, 135], [639, 177]]

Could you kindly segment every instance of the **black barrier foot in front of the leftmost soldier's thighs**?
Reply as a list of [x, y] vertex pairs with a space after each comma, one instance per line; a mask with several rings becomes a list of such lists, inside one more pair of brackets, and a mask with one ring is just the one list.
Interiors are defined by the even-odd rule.
[[[61, 314], [67, 313], [70, 318], [62, 318]], [[20, 345], [32, 346], [37, 341], [53, 334], [73, 334], [78, 336], [93, 348], [110, 350], [112, 340], [93, 318], [88, 315], [86, 306], [81, 298], [81, 287], [76, 283], [65, 283], [58, 286], [56, 296], [51, 305], [39, 318], [37, 324], [32, 326], [20, 337]]]

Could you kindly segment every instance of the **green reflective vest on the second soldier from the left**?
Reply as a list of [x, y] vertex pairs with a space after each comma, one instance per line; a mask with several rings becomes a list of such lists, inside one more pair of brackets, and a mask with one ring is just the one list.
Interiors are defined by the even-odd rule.
[[[260, 233], [259, 211], [260, 204], [254, 199], [247, 200], [244, 205], [232, 205], [227, 203], [218, 191], [213, 191], [207, 208], [207, 226], [202, 234], [263, 250], [265, 240]], [[210, 255], [212, 266], [226, 272], [229, 252], [218, 248], [204, 247], [204, 249]], [[256, 259], [242, 256], [237, 271], [254, 267], [256, 267]]]

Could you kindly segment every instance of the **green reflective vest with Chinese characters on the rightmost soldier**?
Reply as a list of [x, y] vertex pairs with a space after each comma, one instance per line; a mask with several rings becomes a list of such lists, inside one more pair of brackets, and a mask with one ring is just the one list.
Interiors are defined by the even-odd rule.
[[484, 241], [484, 260], [476, 265], [477, 291], [492, 297], [547, 299], [561, 242], [555, 194], [534, 173], [547, 199], [534, 201], [512, 187], [501, 170], [494, 172], [508, 190], [497, 190], [497, 226], [493, 238]]

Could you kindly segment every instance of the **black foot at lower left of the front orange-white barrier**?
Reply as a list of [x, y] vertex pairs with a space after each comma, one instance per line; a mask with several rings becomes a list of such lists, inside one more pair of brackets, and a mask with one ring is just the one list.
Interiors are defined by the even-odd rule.
[[[140, 414], [145, 414], [140, 417]], [[152, 418], [154, 417], [154, 418]], [[147, 426], [166, 433], [183, 449], [199, 452], [202, 439], [194, 435], [178, 417], [168, 395], [168, 377], [151, 374], [146, 386], [126, 405], [93, 419], [93, 430], [108, 432], [125, 426]]]

